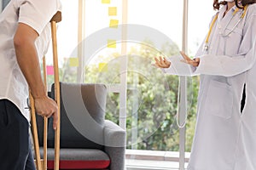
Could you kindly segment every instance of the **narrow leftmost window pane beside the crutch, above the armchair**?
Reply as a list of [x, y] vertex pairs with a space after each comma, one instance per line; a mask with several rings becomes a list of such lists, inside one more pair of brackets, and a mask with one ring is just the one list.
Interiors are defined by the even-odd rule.
[[[76, 82], [77, 76], [77, 51], [78, 46], [78, 26], [79, 26], [79, 1], [61, 1], [62, 3], [62, 20], [57, 24], [57, 43], [60, 81]], [[54, 82], [53, 77], [53, 59], [52, 44], [49, 44], [48, 53], [45, 55], [47, 66], [48, 89]]]

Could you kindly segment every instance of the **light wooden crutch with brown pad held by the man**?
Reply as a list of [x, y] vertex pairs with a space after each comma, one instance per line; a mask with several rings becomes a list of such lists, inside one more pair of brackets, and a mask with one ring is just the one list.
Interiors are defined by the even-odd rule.
[[[53, 61], [54, 61], [54, 77], [55, 77], [55, 101], [58, 105], [58, 117], [59, 121], [57, 128], [55, 130], [55, 170], [59, 169], [60, 162], [60, 85], [59, 85], [59, 66], [58, 66], [58, 53], [57, 53], [57, 40], [56, 40], [56, 23], [61, 21], [61, 12], [57, 12], [53, 18], [50, 20], [51, 24], [51, 35], [52, 35], [52, 46], [53, 46]], [[43, 70], [44, 70], [44, 87], [47, 89], [46, 82], [46, 65], [45, 57], [43, 58]], [[47, 90], [46, 92], [47, 93]], [[35, 150], [35, 163], [38, 170], [47, 170], [47, 132], [48, 132], [48, 118], [44, 117], [44, 159], [41, 160], [40, 150], [38, 144], [38, 127], [36, 121], [36, 112], [34, 99], [32, 94], [29, 94], [29, 99], [31, 103], [31, 116], [32, 116], [32, 133], [33, 133], [33, 142]]]

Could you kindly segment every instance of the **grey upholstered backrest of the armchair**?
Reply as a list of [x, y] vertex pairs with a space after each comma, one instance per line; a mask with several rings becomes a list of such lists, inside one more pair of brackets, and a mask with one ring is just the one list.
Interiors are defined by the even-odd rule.
[[[55, 96], [54, 85], [50, 96]], [[61, 148], [103, 149], [107, 88], [103, 84], [61, 82]], [[49, 147], [54, 130], [49, 120]]]

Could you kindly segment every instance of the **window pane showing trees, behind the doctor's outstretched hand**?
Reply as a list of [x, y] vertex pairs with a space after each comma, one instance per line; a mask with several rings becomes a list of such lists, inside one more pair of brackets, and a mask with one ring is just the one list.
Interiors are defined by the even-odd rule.
[[175, 8], [172, 5], [170, 0], [128, 3], [128, 23], [143, 26], [142, 32], [137, 33], [139, 40], [131, 46], [134, 57], [128, 66], [133, 72], [127, 83], [135, 88], [128, 88], [127, 96], [129, 149], [178, 150], [178, 77], [165, 75], [150, 65], [155, 56], [168, 58], [181, 50], [183, 2], [177, 1]]

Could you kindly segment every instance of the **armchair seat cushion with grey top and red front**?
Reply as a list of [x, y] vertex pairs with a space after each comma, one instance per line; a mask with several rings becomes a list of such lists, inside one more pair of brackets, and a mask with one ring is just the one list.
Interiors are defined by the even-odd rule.
[[[40, 148], [43, 157], [43, 148]], [[48, 150], [48, 169], [54, 169], [54, 149]], [[60, 169], [106, 169], [110, 164], [108, 155], [102, 150], [61, 149]]]

